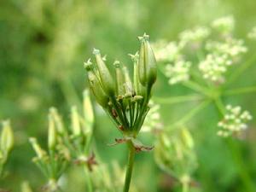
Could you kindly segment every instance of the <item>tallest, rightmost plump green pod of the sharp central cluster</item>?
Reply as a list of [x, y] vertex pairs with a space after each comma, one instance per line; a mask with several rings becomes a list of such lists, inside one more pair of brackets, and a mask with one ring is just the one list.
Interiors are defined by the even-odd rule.
[[138, 73], [141, 84], [146, 86], [148, 84], [151, 87], [156, 80], [156, 61], [154, 57], [154, 51], [151, 48], [148, 35], [144, 34], [139, 38], [141, 41], [141, 49], [138, 63]]

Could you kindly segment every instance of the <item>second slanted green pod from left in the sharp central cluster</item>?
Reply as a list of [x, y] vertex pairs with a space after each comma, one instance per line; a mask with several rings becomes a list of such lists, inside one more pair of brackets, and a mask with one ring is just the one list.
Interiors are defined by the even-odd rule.
[[113, 77], [111, 76], [105, 62], [102, 60], [100, 50], [94, 49], [93, 54], [96, 57], [96, 66], [100, 74], [102, 88], [108, 96], [114, 96], [115, 88]]

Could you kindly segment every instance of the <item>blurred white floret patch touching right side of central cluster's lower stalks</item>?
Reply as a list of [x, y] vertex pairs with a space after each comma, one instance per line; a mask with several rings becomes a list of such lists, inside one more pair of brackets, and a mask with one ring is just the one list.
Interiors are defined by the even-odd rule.
[[154, 129], [161, 129], [162, 124], [160, 122], [160, 105], [155, 104], [153, 101], [149, 102], [150, 110], [148, 111], [148, 115], [144, 121], [142, 131], [148, 132]]

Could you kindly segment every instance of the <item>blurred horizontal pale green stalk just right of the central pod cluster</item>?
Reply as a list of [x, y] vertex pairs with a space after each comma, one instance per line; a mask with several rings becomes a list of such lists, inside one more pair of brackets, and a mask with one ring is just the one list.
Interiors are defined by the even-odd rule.
[[201, 100], [203, 97], [201, 95], [190, 95], [190, 96], [171, 96], [171, 97], [153, 97], [155, 102], [161, 104], [173, 104], [178, 102], [193, 102]]

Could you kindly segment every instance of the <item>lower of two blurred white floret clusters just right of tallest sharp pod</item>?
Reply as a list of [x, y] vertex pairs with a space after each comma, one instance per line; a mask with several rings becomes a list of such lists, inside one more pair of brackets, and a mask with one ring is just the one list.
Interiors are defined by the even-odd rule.
[[183, 61], [182, 59], [176, 61], [174, 64], [166, 65], [166, 77], [169, 79], [169, 84], [177, 84], [189, 80], [189, 69], [191, 62]]

